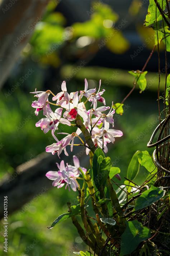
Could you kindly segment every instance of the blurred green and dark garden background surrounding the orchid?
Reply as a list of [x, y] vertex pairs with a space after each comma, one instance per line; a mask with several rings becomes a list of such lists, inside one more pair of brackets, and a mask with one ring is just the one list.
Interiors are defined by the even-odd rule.
[[[16, 171], [23, 168], [19, 165], [27, 161], [32, 163], [47, 145], [54, 142], [50, 133], [44, 134], [35, 127], [41, 114], [34, 115], [31, 107], [34, 99], [29, 92], [35, 88], [37, 91], [51, 89], [56, 94], [60, 92], [63, 80], [66, 80], [68, 91], [72, 92], [83, 89], [86, 78], [90, 88], [98, 87], [101, 79], [107, 105], [112, 101], [121, 102], [128, 94], [133, 87], [133, 77], [128, 71], [141, 70], [154, 45], [152, 29], [143, 27], [148, 2], [49, 1], [43, 17], [37, 17], [37, 22], [28, 28], [32, 36], [0, 92], [1, 194], [4, 193], [4, 182], [8, 181], [7, 187], [13, 186], [13, 190], [17, 189], [15, 179], [22, 183]], [[13, 43], [18, 44], [17, 40], [21, 38], [16, 38]], [[163, 57], [162, 53], [160, 56]], [[132, 155], [136, 150], [147, 150], [146, 144], [158, 123], [157, 65], [155, 52], [146, 68], [146, 91], [140, 93], [136, 87], [124, 102], [122, 115], [114, 115], [115, 129], [123, 131], [124, 136], [110, 145], [108, 155], [113, 165], [121, 169], [122, 184]], [[164, 76], [163, 66], [161, 71]], [[160, 86], [162, 89], [163, 84]], [[148, 151], [152, 153], [152, 149]], [[76, 153], [79, 153], [81, 165], [89, 165], [83, 150]], [[62, 159], [66, 156], [62, 155]], [[57, 161], [60, 159], [55, 156], [53, 162]], [[46, 159], [44, 164], [49, 171], [50, 164], [48, 166], [45, 162]], [[32, 169], [34, 171], [37, 171], [36, 167]], [[138, 182], [142, 183], [145, 174], [145, 170], [140, 169]], [[38, 175], [37, 184], [41, 183], [41, 171]], [[23, 184], [23, 190], [14, 198], [16, 211], [11, 211], [8, 217], [8, 255], [69, 256], [73, 251], [84, 249], [70, 219], [52, 230], [46, 228], [67, 211], [66, 203], [74, 202], [75, 193], [64, 188], [58, 190], [47, 181], [43, 186], [39, 184], [39, 193], [29, 197], [29, 189], [30, 193], [32, 191], [29, 174], [27, 181], [29, 188], [25, 201], [23, 195], [27, 184]], [[23, 202], [22, 205], [19, 201]], [[0, 232], [0, 255], [5, 255], [3, 221]]]

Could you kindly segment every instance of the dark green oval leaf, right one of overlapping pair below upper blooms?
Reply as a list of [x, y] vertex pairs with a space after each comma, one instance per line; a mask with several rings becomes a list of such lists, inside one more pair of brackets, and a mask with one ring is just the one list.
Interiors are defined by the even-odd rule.
[[98, 183], [99, 185], [105, 185], [107, 177], [109, 176], [110, 168], [112, 167], [110, 157], [105, 157], [99, 165]]

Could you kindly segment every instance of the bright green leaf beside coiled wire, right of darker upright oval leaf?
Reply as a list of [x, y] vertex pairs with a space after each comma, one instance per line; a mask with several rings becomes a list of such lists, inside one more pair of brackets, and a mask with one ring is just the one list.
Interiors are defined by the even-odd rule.
[[152, 157], [150, 156], [150, 154], [148, 153], [147, 150], [139, 152], [137, 157], [138, 157], [139, 163], [142, 166], [144, 166], [147, 169], [148, 172], [154, 171], [154, 169], [156, 167], [155, 167], [155, 164], [152, 160]]

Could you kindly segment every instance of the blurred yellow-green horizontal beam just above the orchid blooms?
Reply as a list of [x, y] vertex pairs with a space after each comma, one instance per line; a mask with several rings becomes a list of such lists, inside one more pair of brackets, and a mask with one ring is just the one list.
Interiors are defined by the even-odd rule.
[[[164, 83], [165, 83], [165, 74], [163, 73], [165, 70], [162, 70], [161, 73], [161, 81], [160, 90], [164, 91]], [[107, 67], [98, 67], [98, 66], [88, 66], [83, 65], [64, 65], [61, 68], [60, 75], [63, 80], [70, 80], [74, 77], [77, 80], [94, 79], [101, 82], [103, 86], [112, 85], [112, 86], [127, 86], [133, 87], [134, 77], [128, 73], [128, 70], [122, 69], [110, 69]], [[158, 83], [159, 83], [159, 75], [156, 72], [148, 72], [146, 75], [147, 80], [147, 90], [157, 91]], [[136, 86], [138, 89], [138, 86]]]

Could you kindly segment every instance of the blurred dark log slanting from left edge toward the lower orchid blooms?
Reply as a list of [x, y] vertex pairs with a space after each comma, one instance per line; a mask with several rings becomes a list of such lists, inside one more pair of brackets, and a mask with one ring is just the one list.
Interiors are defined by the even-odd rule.
[[0, 219], [4, 215], [4, 196], [8, 196], [8, 213], [21, 208], [25, 203], [52, 187], [45, 176], [49, 170], [56, 171], [56, 156], [42, 153], [20, 165], [13, 175], [5, 177], [0, 184]]

